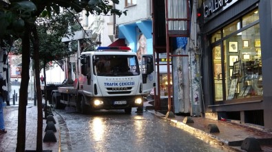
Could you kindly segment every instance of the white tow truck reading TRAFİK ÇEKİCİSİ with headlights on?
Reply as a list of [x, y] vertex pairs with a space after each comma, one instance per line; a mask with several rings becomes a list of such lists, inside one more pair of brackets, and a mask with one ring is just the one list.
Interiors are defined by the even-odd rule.
[[77, 112], [92, 110], [143, 110], [143, 97], [155, 84], [153, 55], [143, 55], [140, 63], [129, 47], [98, 47], [76, 53], [67, 60], [73, 86], [52, 90], [55, 108], [71, 105]]

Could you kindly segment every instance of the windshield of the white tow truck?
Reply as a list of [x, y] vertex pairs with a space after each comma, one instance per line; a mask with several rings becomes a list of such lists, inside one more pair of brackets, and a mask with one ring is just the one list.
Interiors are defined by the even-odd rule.
[[136, 55], [94, 55], [93, 66], [98, 76], [140, 75]]

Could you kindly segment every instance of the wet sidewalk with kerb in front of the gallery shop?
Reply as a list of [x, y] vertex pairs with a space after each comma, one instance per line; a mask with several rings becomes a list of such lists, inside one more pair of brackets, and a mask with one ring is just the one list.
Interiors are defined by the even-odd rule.
[[[193, 120], [193, 123], [185, 124], [182, 123], [186, 118], [185, 116], [165, 118], [165, 114], [161, 114], [160, 112], [152, 110], [153, 105], [145, 103], [145, 106], [148, 112], [151, 112], [152, 114], [169, 121], [169, 123], [172, 123], [176, 125], [176, 127], [190, 132], [202, 140], [208, 140], [208, 142], [217, 142], [217, 144], [220, 145], [227, 145], [227, 147], [230, 147], [234, 151], [243, 151], [241, 149], [241, 144], [244, 139], [253, 137], [260, 142], [262, 151], [272, 151], [272, 132], [265, 131], [262, 128], [254, 127], [254, 125], [242, 125], [230, 121], [215, 121], [202, 117], [189, 117], [191, 120]], [[215, 124], [220, 132], [209, 133], [209, 124]]]

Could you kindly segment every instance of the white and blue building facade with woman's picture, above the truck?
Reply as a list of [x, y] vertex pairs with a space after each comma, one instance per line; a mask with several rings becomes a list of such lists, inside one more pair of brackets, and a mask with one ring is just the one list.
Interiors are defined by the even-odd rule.
[[127, 47], [139, 55], [153, 53], [150, 1], [119, 1], [118, 10], [127, 10], [127, 15], [116, 16], [116, 37], [125, 39]]

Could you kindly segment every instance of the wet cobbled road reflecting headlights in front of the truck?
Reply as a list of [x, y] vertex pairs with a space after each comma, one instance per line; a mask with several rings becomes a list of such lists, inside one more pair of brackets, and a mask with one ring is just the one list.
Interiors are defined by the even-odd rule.
[[[133, 109], [134, 110], [134, 109]], [[144, 112], [101, 110], [83, 115], [56, 110], [69, 130], [72, 151], [224, 151]]]

